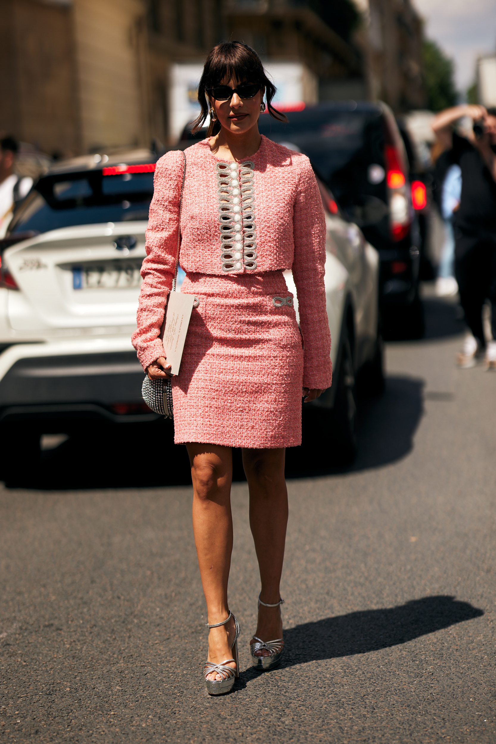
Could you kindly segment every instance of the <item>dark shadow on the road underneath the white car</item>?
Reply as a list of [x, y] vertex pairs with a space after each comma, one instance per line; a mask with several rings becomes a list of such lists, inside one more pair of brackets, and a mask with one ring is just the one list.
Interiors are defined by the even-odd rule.
[[[422, 417], [422, 386], [421, 379], [392, 375], [387, 377], [383, 396], [361, 401], [358, 455], [351, 466], [342, 466], [329, 443], [315, 437], [311, 411], [304, 410], [303, 443], [286, 452], [286, 475], [332, 475], [405, 457], [413, 449], [413, 435]], [[152, 466], [141, 467], [143, 457]], [[233, 480], [245, 480], [239, 449], [233, 450]], [[16, 473], [15, 482], [6, 485], [39, 490], [190, 486], [190, 463], [184, 445], [174, 444], [169, 420], [125, 427], [86, 425], [57, 449], [42, 452], [36, 464], [30, 461]]]

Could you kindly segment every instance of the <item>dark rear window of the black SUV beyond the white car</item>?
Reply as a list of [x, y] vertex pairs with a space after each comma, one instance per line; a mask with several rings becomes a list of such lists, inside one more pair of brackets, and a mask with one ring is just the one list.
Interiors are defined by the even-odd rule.
[[[370, 178], [371, 167], [384, 173], [384, 125], [379, 109], [305, 109], [289, 112], [289, 122], [264, 115], [262, 134], [274, 142], [295, 146], [309, 156], [312, 167], [332, 190], [338, 204], [356, 219], [356, 207], [386, 199], [385, 179]], [[385, 176], [385, 173], [384, 173]]]

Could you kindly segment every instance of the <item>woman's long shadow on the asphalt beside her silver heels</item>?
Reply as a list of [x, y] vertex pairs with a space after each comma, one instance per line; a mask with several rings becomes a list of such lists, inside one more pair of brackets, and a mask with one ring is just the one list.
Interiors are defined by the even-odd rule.
[[[285, 652], [281, 667], [398, 646], [483, 614], [483, 610], [468, 602], [439, 595], [411, 600], [399, 607], [367, 609], [303, 623], [284, 631]], [[246, 683], [258, 674], [250, 669], [239, 677]]]

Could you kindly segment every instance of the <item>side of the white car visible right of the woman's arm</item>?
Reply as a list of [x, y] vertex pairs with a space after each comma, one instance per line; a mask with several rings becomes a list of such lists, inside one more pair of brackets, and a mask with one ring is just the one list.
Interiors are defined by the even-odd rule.
[[[332, 193], [317, 180], [326, 213], [324, 283], [332, 385], [309, 408], [312, 430], [328, 440], [327, 451], [335, 460], [349, 464], [356, 452], [357, 392], [371, 396], [384, 390], [379, 254], [355, 224], [341, 217]], [[286, 272], [286, 283], [296, 294], [291, 272]], [[297, 311], [297, 302], [295, 307]]]

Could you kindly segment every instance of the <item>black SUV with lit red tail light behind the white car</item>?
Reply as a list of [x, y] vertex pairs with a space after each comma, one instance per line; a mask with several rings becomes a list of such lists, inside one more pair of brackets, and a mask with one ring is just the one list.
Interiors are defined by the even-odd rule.
[[309, 156], [344, 217], [379, 251], [384, 324], [400, 324], [406, 336], [422, 336], [419, 228], [393, 112], [381, 102], [339, 101], [287, 116], [287, 124], [261, 116], [260, 132]]

